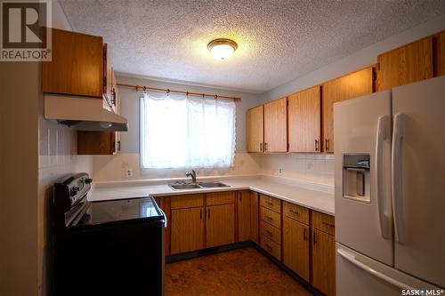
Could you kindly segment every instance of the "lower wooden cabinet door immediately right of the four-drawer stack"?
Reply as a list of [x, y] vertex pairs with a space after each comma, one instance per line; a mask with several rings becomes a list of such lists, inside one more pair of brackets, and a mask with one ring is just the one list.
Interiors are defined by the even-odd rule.
[[309, 227], [283, 217], [283, 263], [309, 282]]

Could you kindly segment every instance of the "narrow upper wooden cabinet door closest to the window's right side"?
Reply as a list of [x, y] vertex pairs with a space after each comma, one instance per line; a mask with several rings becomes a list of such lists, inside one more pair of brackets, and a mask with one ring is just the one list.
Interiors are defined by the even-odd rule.
[[247, 152], [263, 152], [263, 106], [247, 110]]

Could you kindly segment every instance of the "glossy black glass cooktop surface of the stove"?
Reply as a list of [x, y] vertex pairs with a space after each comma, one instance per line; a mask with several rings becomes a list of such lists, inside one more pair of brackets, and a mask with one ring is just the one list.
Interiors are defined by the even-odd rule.
[[152, 197], [116, 199], [89, 203], [85, 217], [77, 225], [98, 225], [126, 220], [163, 220]]

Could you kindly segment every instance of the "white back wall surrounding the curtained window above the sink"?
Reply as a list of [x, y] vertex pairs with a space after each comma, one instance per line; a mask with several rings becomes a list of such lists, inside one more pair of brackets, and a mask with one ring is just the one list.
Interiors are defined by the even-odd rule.
[[[204, 86], [177, 84], [145, 79], [143, 77], [117, 76], [122, 84], [146, 85], [158, 88], [182, 90], [189, 92], [205, 92], [211, 94], [241, 97], [237, 101], [236, 118], [236, 155], [235, 166], [230, 169], [198, 170], [200, 176], [253, 174], [260, 172], [261, 156], [247, 154], [246, 148], [246, 112], [259, 104], [258, 94], [216, 89]], [[128, 119], [128, 132], [121, 132], [121, 153], [118, 156], [93, 156], [94, 180], [131, 180], [159, 179], [184, 177], [184, 170], [141, 170], [139, 154], [139, 92], [134, 89], [119, 87], [121, 114]], [[126, 178], [126, 169], [132, 169], [133, 177]]]

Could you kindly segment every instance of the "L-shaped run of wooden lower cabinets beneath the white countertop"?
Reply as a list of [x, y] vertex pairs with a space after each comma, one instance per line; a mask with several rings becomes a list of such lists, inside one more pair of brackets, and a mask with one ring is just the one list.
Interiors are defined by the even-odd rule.
[[169, 217], [167, 258], [250, 242], [319, 292], [335, 295], [333, 216], [250, 190], [156, 200]]

